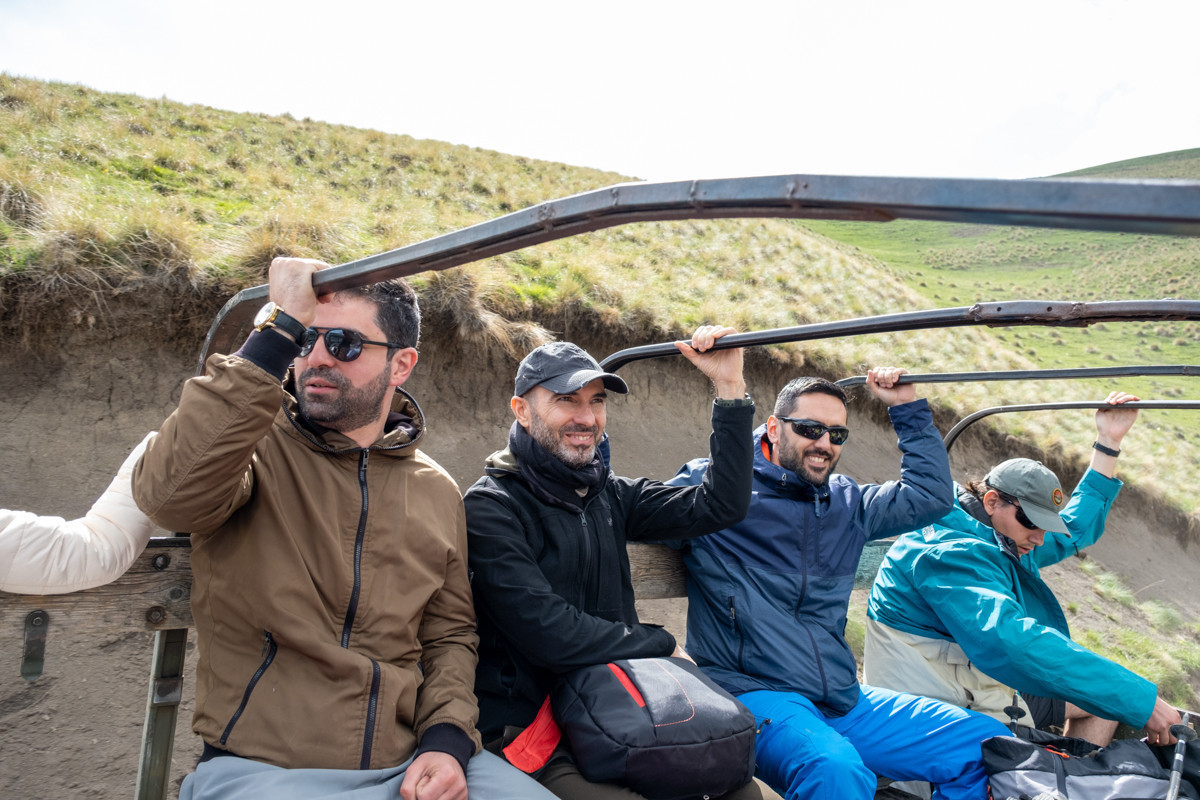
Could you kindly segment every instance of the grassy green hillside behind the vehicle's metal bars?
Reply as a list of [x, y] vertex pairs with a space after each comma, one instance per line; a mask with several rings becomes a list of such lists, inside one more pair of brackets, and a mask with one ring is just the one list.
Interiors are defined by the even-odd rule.
[[[1158, 158], [1194, 174], [1198, 151], [1188, 152]], [[64, 318], [102, 330], [115, 324], [110, 299], [134, 296], [148, 306], [186, 305], [191, 315], [180, 330], [199, 337], [229, 295], [264, 282], [274, 255], [344, 263], [624, 180], [287, 115], [0, 74], [0, 333], [8, 347], [32, 348], [34, 333], [61, 333]], [[546, 336], [542, 329], [644, 343], [703, 321], [749, 330], [976, 300], [1088, 300], [1117, 289], [1129, 297], [1200, 296], [1196, 247], [1193, 240], [936, 223], [685, 221], [576, 236], [415, 283], [422, 302], [448, 311], [464, 333], [518, 350]], [[1196, 359], [1195, 326], [1162, 327], [1133, 337], [1126, 329], [955, 329], [772, 348], [770, 355], [788, 368], [808, 363], [838, 374], [880, 363], [956, 371]], [[1139, 391], [1156, 397], [1165, 387]], [[1026, 397], [995, 384], [928, 393], [958, 414]], [[1045, 393], [1103, 395], [1094, 385]], [[1076, 464], [1085, 455], [1079, 445], [1091, 441], [1087, 415], [1004, 425]], [[1175, 434], [1163, 438], [1168, 450], [1141, 461], [1130, 453], [1138, 468], [1128, 473], [1193, 510], [1193, 470], [1169, 467], [1200, 463], [1195, 438], [1182, 422], [1158, 425]]]

